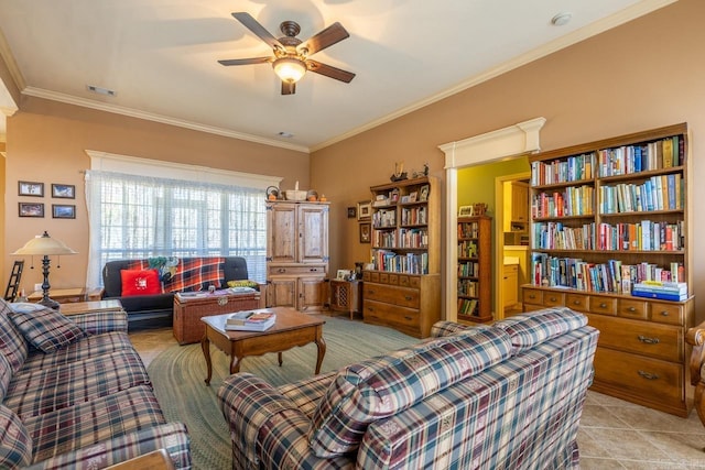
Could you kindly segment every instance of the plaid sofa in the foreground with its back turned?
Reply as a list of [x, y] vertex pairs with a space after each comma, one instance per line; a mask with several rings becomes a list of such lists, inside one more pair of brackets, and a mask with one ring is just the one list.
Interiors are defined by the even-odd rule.
[[441, 321], [412, 348], [272, 387], [218, 391], [234, 469], [578, 468], [598, 331], [568, 308]]

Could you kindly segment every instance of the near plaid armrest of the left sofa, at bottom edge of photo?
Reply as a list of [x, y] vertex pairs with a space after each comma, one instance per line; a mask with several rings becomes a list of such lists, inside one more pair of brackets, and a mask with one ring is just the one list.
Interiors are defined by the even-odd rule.
[[28, 469], [102, 469], [159, 449], [165, 449], [169, 452], [174, 468], [189, 469], [189, 442], [185, 425], [182, 423], [166, 423], [140, 431], [128, 433], [73, 452], [55, 456], [36, 462], [28, 467]]

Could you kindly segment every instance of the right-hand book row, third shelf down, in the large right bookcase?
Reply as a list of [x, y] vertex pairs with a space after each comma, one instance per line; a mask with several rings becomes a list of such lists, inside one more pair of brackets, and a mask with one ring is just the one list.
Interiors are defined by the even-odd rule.
[[684, 222], [600, 223], [598, 250], [682, 251], [685, 247]]

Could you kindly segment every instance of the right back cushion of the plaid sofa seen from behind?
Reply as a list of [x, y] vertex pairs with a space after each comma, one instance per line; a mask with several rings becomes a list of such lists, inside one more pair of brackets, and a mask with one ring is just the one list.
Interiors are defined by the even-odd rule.
[[511, 337], [513, 353], [519, 354], [544, 341], [587, 325], [587, 317], [567, 307], [544, 308], [497, 321], [494, 326]]

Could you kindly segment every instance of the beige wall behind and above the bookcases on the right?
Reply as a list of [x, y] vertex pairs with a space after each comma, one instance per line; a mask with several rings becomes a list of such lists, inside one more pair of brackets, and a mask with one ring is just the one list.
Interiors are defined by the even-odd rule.
[[[312, 154], [312, 184], [334, 201], [330, 267], [369, 256], [344, 208], [388, 182], [392, 162], [431, 164], [443, 176], [437, 145], [544, 117], [544, 150], [686, 121], [694, 181], [705, 181], [705, 2], [681, 0], [411, 114]], [[443, 73], [438, 70], [437, 73]], [[370, 100], [373, 106], [373, 100]], [[705, 200], [694, 185], [693, 200]], [[695, 233], [705, 214], [694, 211]], [[691, 243], [694, 292], [705, 296], [705, 245]]]

